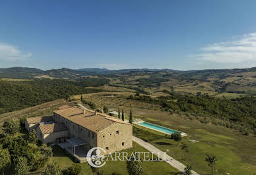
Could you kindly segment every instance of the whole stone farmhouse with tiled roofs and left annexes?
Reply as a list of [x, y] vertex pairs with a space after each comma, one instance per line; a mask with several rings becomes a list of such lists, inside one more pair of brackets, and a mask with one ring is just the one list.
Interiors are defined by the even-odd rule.
[[26, 130], [36, 130], [43, 143], [61, 143], [77, 154], [92, 147], [113, 153], [132, 147], [133, 126], [119, 118], [89, 109], [65, 105], [53, 116], [26, 118]]

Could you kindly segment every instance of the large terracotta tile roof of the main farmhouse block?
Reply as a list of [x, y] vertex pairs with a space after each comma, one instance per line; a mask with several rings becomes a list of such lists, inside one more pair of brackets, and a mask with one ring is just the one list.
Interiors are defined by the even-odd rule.
[[122, 124], [129, 124], [113, 116], [108, 116], [99, 112], [96, 112], [95, 114], [94, 111], [89, 109], [83, 111], [79, 107], [61, 109], [53, 112], [96, 133], [117, 122]]

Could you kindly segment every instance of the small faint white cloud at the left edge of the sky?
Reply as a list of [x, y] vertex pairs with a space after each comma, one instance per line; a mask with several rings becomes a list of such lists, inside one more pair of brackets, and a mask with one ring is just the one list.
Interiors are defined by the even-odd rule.
[[0, 43], [0, 60], [24, 61], [31, 57], [31, 53], [23, 54], [18, 47], [7, 43]]

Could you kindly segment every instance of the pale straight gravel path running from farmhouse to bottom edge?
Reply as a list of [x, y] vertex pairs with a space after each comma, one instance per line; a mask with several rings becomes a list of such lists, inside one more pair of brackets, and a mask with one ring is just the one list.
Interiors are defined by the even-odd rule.
[[[166, 159], [168, 161], [166, 161], [168, 164], [174, 166], [174, 168], [176, 168], [177, 170], [180, 170], [181, 172], [184, 172], [184, 168], [186, 167], [184, 164], [182, 164], [179, 161], [176, 161], [174, 158], [170, 157], [167, 154], [164, 154], [163, 151], [160, 151], [160, 149], [157, 149], [156, 147], [154, 147], [153, 145], [151, 145], [150, 143], [147, 143], [146, 141], [143, 141], [142, 139], [139, 139], [138, 137], [133, 136], [133, 141], [135, 141], [136, 143], [138, 143], [139, 145], [141, 145], [142, 147], [144, 147], [145, 149], [147, 149], [150, 152], [154, 152], [154, 155], [158, 156], [159, 153], [159, 157], [160, 159]], [[171, 161], [169, 161], [171, 160]], [[191, 171], [192, 174], [198, 174], [195, 171]]]

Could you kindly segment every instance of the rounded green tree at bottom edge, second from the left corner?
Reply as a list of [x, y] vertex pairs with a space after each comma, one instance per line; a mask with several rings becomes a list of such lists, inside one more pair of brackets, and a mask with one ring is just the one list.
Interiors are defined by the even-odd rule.
[[25, 157], [17, 157], [15, 159], [15, 174], [25, 175], [28, 174], [30, 168], [28, 166], [28, 160]]

